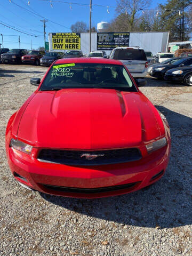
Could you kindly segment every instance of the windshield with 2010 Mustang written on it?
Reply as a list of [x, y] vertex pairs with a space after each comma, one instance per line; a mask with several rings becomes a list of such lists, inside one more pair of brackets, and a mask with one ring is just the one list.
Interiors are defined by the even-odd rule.
[[65, 88], [103, 88], [137, 92], [122, 65], [100, 63], [65, 63], [52, 66], [40, 90]]

